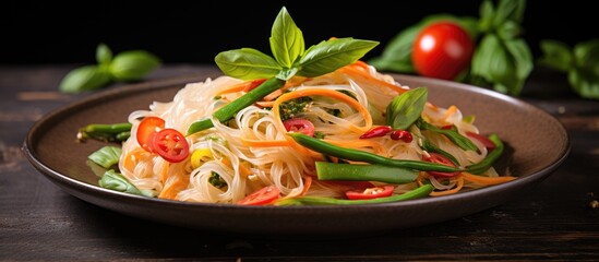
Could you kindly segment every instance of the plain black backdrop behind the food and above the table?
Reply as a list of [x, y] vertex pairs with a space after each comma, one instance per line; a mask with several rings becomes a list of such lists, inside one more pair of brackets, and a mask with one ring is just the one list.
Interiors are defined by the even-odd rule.
[[[328, 37], [379, 40], [379, 56], [402, 29], [426, 15], [478, 17], [479, 0], [418, 1], [11, 1], [1, 10], [0, 64], [89, 63], [106, 43], [113, 52], [145, 49], [166, 63], [213, 63], [219, 51], [253, 47], [269, 53], [271, 26], [283, 5], [307, 46]], [[155, 2], [155, 3], [152, 3]], [[496, 3], [496, 1], [494, 1]], [[529, 0], [525, 39], [566, 44], [598, 37], [592, 1]]]

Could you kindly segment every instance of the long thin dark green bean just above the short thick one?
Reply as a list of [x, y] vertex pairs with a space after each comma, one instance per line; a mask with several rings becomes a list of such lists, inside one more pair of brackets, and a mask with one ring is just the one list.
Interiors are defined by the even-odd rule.
[[335, 156], [338, 158], [355, 160], [355, 162], [366, 162], [370, 164], [380, 164], [384, 166], [393, 166], [408, 169], [416, 169], [420, 171], [462, 171], [459, 168], [445, 166], [442, 164], [434, 164], [430, 162], [420, 162], [420, 160], [406, 160], [406, 159], [393, 159], [376, 154], [372, 154], [366, 151], [345, 148], [342, 146], [333, 145], [331, 143], [324, 142], [319, 139], [306, 135], [303, 133], [287, 133], [299, 144], [313, 150], [325, 155]]

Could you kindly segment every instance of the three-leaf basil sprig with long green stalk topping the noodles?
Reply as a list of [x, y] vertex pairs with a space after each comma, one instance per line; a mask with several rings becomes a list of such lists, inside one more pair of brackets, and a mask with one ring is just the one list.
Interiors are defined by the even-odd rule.
[[[314, 78], [356, 62], [379, 41], [354, 38], [333, 38], [306, 49], [303, 34], [285, 7], [281, 8], [271, 31], [268, 56], [253, 48], [219, 52], [215, 62], [226, 75], [242, 79], [268, 79], [257, 87], [225, 105], [213, 114], [220, 122], [228, 121], [241, 109], [283, 87], [293, 75]], [[193, 122], [187, 134], [212, 128], [211, 118]]]

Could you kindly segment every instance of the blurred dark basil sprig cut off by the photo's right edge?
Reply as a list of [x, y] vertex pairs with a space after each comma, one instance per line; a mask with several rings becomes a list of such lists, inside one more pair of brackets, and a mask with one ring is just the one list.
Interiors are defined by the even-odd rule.
[[570, 85], [579, 96], [599, 99], [599, 38], [573, 48], [558, 40], [540, 43], [539, 64], [567, 73]]

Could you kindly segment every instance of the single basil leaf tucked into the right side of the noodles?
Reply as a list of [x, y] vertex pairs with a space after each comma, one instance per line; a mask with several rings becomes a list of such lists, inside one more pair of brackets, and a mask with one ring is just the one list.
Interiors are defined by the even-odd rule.
[[394, 130], [407, 130], [422, 115], [427, 96], [427, 88], [417, 87], [393, 98], [387, 106], [387, 126]]

